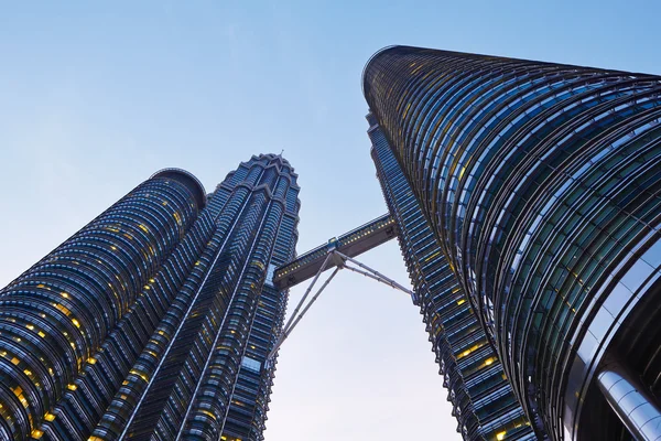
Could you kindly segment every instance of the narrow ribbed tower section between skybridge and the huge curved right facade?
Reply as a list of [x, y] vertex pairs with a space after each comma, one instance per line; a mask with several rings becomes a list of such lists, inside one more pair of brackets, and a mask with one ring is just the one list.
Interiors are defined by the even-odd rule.
[[372, 115], [371, 155], [413, 283], [457, 431], [465, 440], [534, 440], [485, 331], [436, 244], [418, 201]]

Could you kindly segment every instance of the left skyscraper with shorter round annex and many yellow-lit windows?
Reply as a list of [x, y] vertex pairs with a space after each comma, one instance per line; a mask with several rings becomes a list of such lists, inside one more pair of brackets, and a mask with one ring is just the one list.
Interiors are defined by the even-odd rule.
[[0, 291], [0, 438], [262, 439], [297, 193], [280, 155], [166, 169]]

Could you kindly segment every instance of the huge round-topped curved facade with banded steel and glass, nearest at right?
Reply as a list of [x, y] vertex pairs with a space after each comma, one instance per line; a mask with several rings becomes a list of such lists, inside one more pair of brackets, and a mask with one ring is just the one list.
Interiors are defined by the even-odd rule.
[[405, 46], [365, 68], [370, 109], [541, 438], [626, 438], [596, 386], [605, 355], [659, 399], [660, 92], [653, 75]]

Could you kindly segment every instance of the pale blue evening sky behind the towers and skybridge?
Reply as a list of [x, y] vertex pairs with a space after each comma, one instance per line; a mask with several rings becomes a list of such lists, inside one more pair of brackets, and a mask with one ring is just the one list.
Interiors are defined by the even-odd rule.
[[[212, 191], [284, 149], [300, 252], [384, 213], [360, 74], [387, 45], [661, 73], [654, 0], [64, 3], [0, 1], [2, 286], [165, 166]], [[364, 260], [407, 281], [395, 243]], [[458, 439], [426, 338], [340, 273], [281, 349], [267, 441]]]

